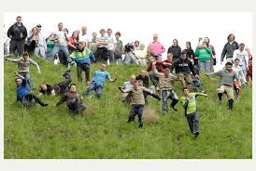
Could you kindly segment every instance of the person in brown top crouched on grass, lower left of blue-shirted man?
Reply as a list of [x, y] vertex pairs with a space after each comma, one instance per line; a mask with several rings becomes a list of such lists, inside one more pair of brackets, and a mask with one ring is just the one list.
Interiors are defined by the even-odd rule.
[[61, 99], [56, 103], [56, 106], [63, 104], [65, 101], [71, 114], [77, 114], [86, 109], [85, 104], [82, 102], [82, 98], [78, 95], [76, 84], [70, 85], [69, 92], [65, 93], [61, 97]]

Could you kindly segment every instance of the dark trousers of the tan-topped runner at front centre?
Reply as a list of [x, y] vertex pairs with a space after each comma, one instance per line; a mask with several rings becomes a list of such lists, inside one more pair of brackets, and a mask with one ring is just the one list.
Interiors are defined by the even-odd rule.
[[144, 110], [144, 104], [132, 104], [128, 122], [135, 121], [135, 115], [137, 115], [138, 124], [143, 125], [143, 121], [142, 121], [143, 110]]

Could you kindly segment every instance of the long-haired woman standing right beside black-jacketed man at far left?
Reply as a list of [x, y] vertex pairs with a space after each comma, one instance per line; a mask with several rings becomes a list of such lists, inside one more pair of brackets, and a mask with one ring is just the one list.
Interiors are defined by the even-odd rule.
[[34, 53], [36, 46], [38, 46], [38, 33], [37, 33], [37, 27], [34, 27], [27, 37], [24, 49], [29, 54]]

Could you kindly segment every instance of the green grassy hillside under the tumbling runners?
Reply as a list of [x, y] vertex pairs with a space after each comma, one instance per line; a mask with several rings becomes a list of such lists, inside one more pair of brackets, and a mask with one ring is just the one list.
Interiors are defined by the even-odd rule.
[[[64, 67], [36, 59], [42, 75], [31, 66], [31, 77], [36, 85], [43, 81], [58, 83], [63, 80]], [[98, 69], [93, 64], [91, 73]], [[184, 110], [178, 103], [178, 112], [169, 110], [162, 115], [161, 103], [149, 97], [149, 107], [158, 118], [155, 122], [145, 121], [142, 129], [137, 120], [127, 124], [129, 105], [121, 102], [118, 86], [128, 81], [131, 74], [143, 68], [138, 66], [107, 66], [114, 84], [106, 82], [102, 99], [84, 98], [87, 114], [84, 117], [70, 116], [63, 104], [55, 107], [59, 97], [43, 96], [50, 104], [46, 108], [35, 107], [25, 110], [16, 101], [16, 85], [13, 72], [17, 64], [5, 61], [5, 139], [4, 157], [13, 158], [121, 158], [121, 159], [251, 159], [252, 158], [252, 90], [246, 86], [242, 99], [235, 101], [233, 112], [227, 112], [227, 101], [219, 105], [216, 89], [219, 78], [202, 77], [208, 97], [197, 99], [200, 116], [200, 136], [194, 138], [189, 130]], [[77, 82], [76, 68], [72, 68]], [[83, 92], [85, 83], [78, 84]], [[181, 96], [180, 84], [175, 90]], [[94, 94], [94, 93], [92, 93]]]

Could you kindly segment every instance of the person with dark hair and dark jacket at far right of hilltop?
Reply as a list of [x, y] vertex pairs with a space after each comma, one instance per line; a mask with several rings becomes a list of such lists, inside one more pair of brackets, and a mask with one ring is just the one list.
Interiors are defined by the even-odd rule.
[[221, 53], [220, 64], [222, 64], [222, 61], [224, 60], [225, 56], [227, 60], [233, 60], [233, 53], [235, 49], [238, 49], [238, 47], [238, 43], [235, 42], [235, 35], [233, 33], [229, 34], [228, 43], [225, 44]]

